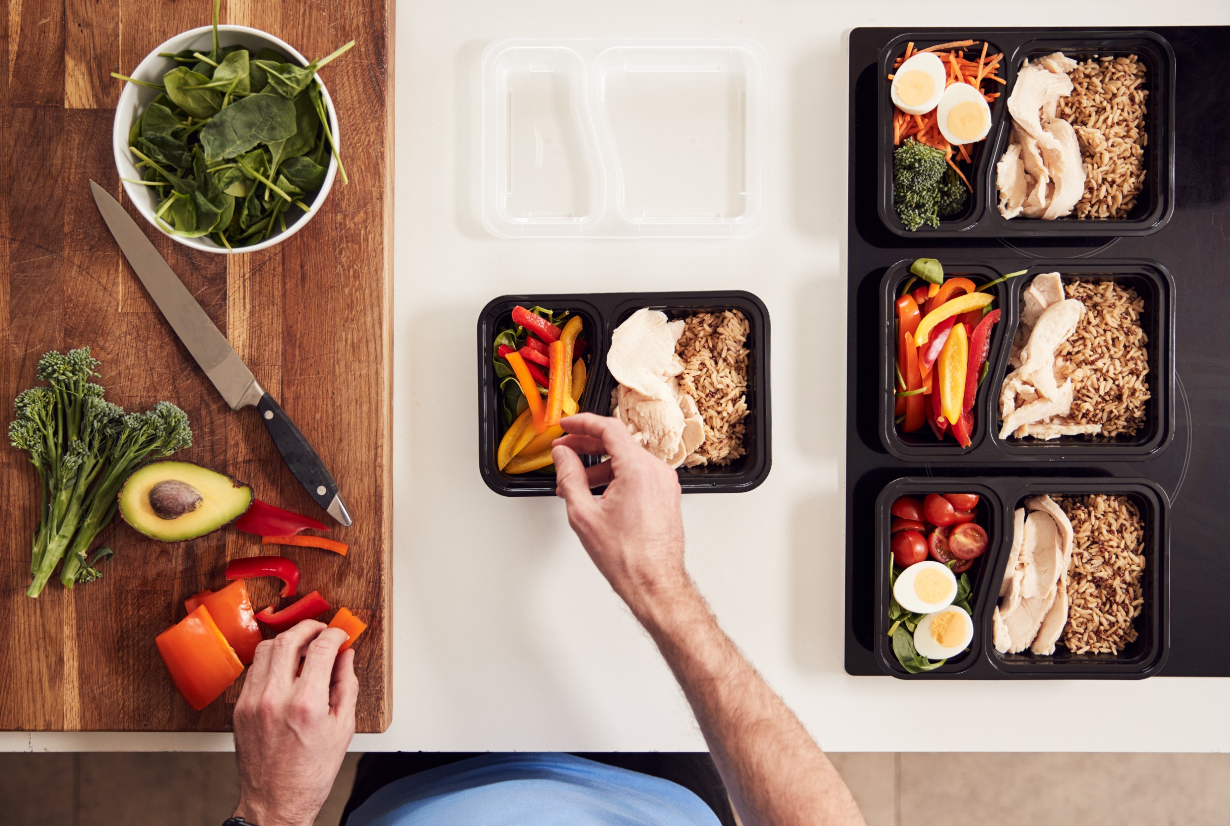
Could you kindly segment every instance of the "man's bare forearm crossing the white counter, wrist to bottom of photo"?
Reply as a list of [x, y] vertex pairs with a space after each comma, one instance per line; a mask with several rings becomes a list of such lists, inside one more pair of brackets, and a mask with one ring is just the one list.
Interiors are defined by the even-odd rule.
[[745, 826], [863, 822], [833, 764], [722, 632], [695, 586], [637, 608]]

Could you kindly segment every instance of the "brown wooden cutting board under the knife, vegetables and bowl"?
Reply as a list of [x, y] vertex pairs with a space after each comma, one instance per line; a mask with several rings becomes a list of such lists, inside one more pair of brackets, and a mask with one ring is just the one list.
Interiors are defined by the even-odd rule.
[[[294, 419], [354, 516], [330, 535], [348, 556], [282, 550], [320, 590], [370, 622], [355, 645], [359, 731], [391, 714], [390, 31], [381, 0], [224, 0], [221, 21], [277, 34], [310, 57], [348, 39], [321, 75], [336, 102], [351, 183], [269, 250], [223, 256], [171, 241], [122, 196], [111, 149], [121, 82], [167, 37], [210, 21], [210, 0], [11, 0], [0, 4], [0, 421], [37, 383], [48, 350], [89, 345], [107, 398], [130, 410], [159, 400], [189, 416], [176, 454], [250, 483], [260, 499], [322, 521], [282, 463], [253, 409], [232, 411], [145, 294], [90, 197], [93, 178], [129, 207], [231, 346]], [[224, 43], [225, 44], [225, 43]], [[234, 527], [180, 544], [139, 535], [117, 517], [100, 537], [116, 551], [101, 581], [37, 599], [30, 582], [37, 478], [0, 442], [0, 729], [221, 731], [242, 678], [203, 712], [175, 692], [154, 636], [184, 597], [224, 585], [226, 560], [257, 555]], [[269, 550], [269, 549], [266, 549]], [[277, 599], [268, 579], [252, 601]]]

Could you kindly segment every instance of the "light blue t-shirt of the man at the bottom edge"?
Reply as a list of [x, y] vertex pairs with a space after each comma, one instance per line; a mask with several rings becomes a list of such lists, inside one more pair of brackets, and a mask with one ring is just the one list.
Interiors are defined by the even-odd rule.
[[560, 753], [483, 755], [380, 789], [348, 826], [720, 826], [670, 780]]

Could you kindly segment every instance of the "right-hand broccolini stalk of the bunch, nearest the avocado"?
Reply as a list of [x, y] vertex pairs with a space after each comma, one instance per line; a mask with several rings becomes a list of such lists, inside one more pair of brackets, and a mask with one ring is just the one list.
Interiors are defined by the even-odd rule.
[[108, 457], [111, 464], [106, 475], [90, 491], [89, 508], [60, 570], [60, 582], [64, 587], [71, 588], [87, 570], [86, 551], [90, 549], [90, 543], [116, 515], [119, 490], [133, 470], [143, 462], [162, 459], [182, 447], [191, 446], [192, 428], [188, 426], [188, 416], [170, 401], [159, 401], [149, 412], [124, 416], [123, 427]]

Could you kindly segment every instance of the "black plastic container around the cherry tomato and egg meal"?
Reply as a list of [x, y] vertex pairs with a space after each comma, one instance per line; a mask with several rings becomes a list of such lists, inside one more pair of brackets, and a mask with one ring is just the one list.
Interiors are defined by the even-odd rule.
[[[926, 494], [978, 494], [978, 523], [986, 528], [989, 543], [974, 567], [974, 638], [969, 650], [934, 671], [911, 675], [893, 654], [888, 636], [888, 571], [892, 551], [892, 506], [899, 496]], [[1144, 604], [1135, 619], [1137, 640], [1118, 655], [1069, 654], [1061, 645], [1053, 656], [1000, 654], [995, 650], [991, 617], [999, 599], [1009, 551], [1012, 547], [1012, 512], [1025, 500], [1041, 494], [1118, 495], [1140, 510], [1145, 527]], [[1170, 502], [1156, 484], [1146, 479], [1095, 478], [1057, 479], [1026, 476], [909, 476], [888, 484], [876, 500], [876, 590], [875, 655], [879, 668], [900, 680], [1141, 680], [1161, 670], [1170, 651]]]

